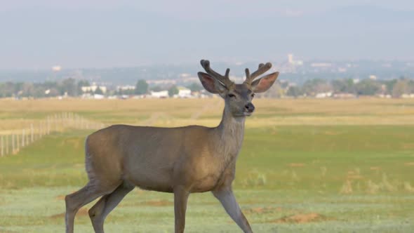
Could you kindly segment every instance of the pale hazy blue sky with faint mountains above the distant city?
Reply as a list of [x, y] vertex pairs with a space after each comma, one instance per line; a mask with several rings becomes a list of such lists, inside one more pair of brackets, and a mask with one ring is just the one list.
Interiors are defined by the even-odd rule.
[[0, 69], [414, 60], [414, 1], [2, 1]]

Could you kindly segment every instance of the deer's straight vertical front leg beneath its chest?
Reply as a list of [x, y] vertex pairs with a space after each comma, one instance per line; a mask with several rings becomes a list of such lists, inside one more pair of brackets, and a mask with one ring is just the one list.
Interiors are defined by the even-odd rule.
[[188, 196], [189, 192], [185, 187], [174, 188], [175, 233], [184, 232]]

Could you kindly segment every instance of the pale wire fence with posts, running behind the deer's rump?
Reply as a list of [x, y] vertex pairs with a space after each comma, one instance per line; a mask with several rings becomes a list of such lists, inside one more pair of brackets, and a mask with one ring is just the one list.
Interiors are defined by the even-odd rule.
[[40, 140], [51, 133], [65, 132], [70, 129], [99, 129], [105, 124], [91, 121], [73, 112], [61, 112], [34, 121], [19, 130], [0, 132], [0, 157], [17, 154], [20, 149]]

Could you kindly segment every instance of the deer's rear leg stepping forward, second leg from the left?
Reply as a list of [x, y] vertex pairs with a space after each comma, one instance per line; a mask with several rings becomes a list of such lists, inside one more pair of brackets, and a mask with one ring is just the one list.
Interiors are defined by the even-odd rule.
[[95, 232], [104, 232], [103, 225], [107, 215], [122, 201], [123, 197], [134, 189], [133, 185], [123, 182], [114, 192], [103, 196], [89, 210], [93, 229]]

